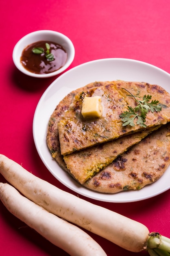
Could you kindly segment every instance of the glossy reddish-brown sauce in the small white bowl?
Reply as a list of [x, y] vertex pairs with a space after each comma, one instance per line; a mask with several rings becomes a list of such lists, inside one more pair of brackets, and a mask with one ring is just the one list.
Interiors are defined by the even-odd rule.
[[[41, 47], [46, 51], [46, 43], [50, 45], [50, 53], [54, 56], [54, 60], [49, 61], [46, 54], [35, 54], [33, 48]], [[67, 61], [67, 52], [63, 47], [51, 41], [38, 41], [28, 45], [22, 52], [20, 61], [26, 70], [35, 74], [48, 74], [59, 70]]]

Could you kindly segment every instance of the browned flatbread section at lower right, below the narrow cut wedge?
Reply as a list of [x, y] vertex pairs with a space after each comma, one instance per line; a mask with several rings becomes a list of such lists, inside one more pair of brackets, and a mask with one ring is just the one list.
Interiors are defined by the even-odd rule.
[[157, 181], [170, 164], [170, 123], [145, 137], [83, 186], [102, 193], [139, 190]]

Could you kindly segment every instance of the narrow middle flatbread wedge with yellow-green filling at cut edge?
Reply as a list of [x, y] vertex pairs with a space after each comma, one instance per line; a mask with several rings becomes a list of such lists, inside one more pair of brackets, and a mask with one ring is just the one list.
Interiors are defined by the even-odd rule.
[[76, 151], [63, 157], [64, 162], [72, 176], [83, 184], [113, 162], [116, 157], [158, 128], [159, 126], [148, 128], [143, 132], [135, 132], [113, 141]]

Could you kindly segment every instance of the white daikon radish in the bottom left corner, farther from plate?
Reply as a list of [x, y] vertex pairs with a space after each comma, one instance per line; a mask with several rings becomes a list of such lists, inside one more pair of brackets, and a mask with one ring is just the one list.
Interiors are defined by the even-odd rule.
[[0, 182], [0, 200], [17, 218], [52, 244], [72, 256], [107, 256], [85, 231], [49, 213], [22, 196], [13, 186]]

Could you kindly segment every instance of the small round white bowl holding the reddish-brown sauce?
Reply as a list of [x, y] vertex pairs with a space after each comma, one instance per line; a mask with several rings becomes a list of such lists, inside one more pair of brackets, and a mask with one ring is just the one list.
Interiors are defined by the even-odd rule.
[[[24, 48], [32, 43], [41, 41], [41, 40], [48, 40], [52, 41], [55, 43], [58, 43], [61, 45], [65, 51], [68, 54], [67, 61], [63, 67], [61, 67], [59, 70], [56, 70], [54, 72], [48, 73], [48, 74], [35, 74], [32, 73], [28, 70], [26, 70], [22, 63], [20, 62], [20, 57], [22, 55], [22, 51]], [[28, 76], [33, 76], [33, 77], [38, 77], [38, 78], [46, 78], [46, 77], [51, 77], [51, 76], [56, 76], [57, 74], [60, 74], [64, 70], [66, 70], [72, 61], [74, 60], [74, 55], [75, 55], [75, 49], [72, 41], [65, 35], [57, 32], [57, 31], [52, 31], [52, 30], [38, 30], [31, 32], [21, 38], [17, 44], [15, 45], [13, 49], [13, 62], [15, 66], [17, 67], [18, 70], [20, 70], [22, 73], [28, 75]]]

